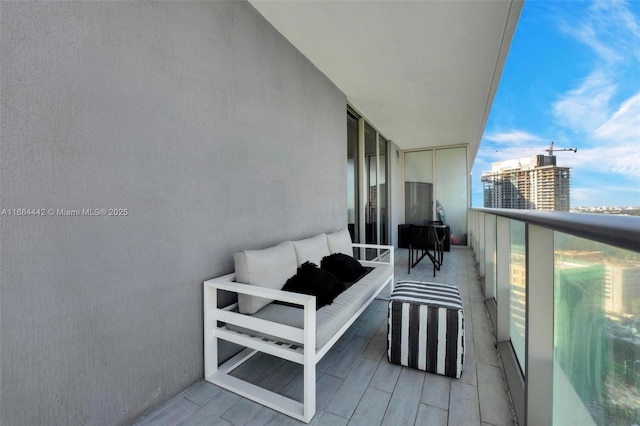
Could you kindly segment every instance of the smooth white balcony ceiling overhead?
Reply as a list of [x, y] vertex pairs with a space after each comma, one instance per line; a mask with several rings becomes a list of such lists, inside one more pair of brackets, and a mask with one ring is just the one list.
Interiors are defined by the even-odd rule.
[[522, 0], [249, 0], [402, 149], [473, 162]]

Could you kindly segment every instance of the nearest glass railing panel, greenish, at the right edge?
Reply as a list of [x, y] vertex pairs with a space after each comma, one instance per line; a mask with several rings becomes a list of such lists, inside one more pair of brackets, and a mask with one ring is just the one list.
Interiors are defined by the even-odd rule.
[[554, 246], [553, 422], [638, 424], [640, 254], [561, 232]]

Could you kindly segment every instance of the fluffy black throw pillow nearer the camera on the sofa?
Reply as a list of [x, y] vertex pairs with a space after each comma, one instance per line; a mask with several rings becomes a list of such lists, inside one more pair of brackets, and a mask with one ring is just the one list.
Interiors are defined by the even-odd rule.
[[311, 262], [300, 265], [297, 273], [282, 287], [286, 291], [316, 296], [316, 310], [330, 305], [344, 288], [344, 284], [335, 275]]

